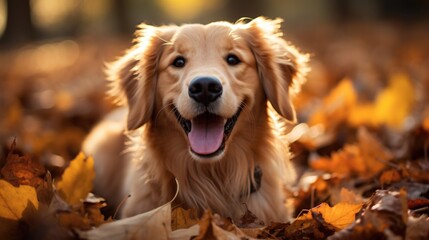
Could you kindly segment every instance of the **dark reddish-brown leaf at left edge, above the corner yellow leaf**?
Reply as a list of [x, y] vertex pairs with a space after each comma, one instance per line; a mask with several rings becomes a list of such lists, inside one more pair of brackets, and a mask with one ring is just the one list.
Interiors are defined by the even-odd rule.
[[6, 164], [1, 169], [3, 178], [14, 186], [30, 185], [37, 187], [41, 185], [46, 173], [43, 165], [28, 155], [14, 154], [15, 148], [16, 142], [14, 140], [6, 157]]

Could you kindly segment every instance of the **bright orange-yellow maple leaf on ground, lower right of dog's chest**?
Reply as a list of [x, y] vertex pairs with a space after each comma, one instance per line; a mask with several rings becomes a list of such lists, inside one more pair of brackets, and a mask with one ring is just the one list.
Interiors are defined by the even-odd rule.
[[317, 212], [322, 214], [326, 223], [329, 223], [338, 230], [341, 230], [355, 221], [355, 215], [361, 208], [362, 204], [341, 202], [330, 207], [327, 203], [322, 203], [319, 206], [312, 208], [310, 212], [302, 215], [296, 220], [311, 219], [311, 212]]

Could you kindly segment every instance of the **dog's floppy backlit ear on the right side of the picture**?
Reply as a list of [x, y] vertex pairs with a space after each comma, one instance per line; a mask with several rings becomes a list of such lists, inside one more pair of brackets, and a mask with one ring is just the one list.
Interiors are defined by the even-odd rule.
[[308, 71], [308, 55], [301, 54], [282, 38], [281, 19], [256, 18], [243, 27], [244, 38], [253, 51], [265, 94], [274, 109], [296, 121], [291, 94], [299, 90]]

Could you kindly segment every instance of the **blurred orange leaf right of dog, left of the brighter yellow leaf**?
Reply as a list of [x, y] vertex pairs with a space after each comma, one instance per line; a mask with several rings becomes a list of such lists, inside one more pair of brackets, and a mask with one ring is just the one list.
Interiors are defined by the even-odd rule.
[[321, 107], [310, 117], [308, 124], [322, 124], [327, 128], [337, 126], [347, 119], [350, 109], [356, 105], [357, 94], [350, 79], [343, 79], [323, 99]]

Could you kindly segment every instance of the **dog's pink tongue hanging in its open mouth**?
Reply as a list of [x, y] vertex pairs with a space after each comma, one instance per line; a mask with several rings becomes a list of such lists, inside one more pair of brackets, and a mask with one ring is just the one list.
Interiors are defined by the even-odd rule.
[[192, 150], [201, 155], [216, 152], [223, 141], [224, 120], [219, 116], [204, 114], [191, 122], [188, 138]]

